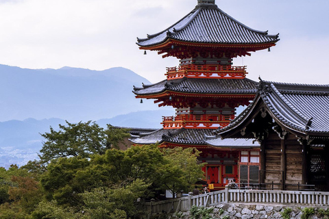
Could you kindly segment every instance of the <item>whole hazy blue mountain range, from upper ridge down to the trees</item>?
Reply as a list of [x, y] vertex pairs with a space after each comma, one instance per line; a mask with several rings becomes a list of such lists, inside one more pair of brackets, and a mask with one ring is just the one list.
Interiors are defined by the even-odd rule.
[[160, 128], [160, 110], [153, 101], [135, 99], [132, 87], [150, 83], [127, 68], [88, 70], [24, 69], [0, 65], [0, 166], [37, 159], [40, 133], [49, 127], [88, 120], [102, 127]]

